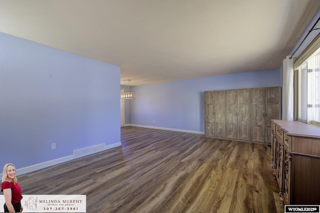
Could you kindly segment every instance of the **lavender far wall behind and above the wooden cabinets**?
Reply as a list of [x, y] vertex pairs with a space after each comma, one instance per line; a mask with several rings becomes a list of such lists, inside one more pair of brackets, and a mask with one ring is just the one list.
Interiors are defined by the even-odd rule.
[[204, 91], [280, 86], [279, 77], [275, 68], [133, 86], [126, 123], [202, 132]]

